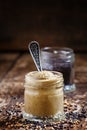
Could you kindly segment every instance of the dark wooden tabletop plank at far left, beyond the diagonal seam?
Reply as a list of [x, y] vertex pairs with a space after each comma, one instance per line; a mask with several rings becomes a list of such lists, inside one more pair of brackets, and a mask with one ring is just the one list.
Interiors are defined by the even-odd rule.
[[10, 70], [12, 67], [14, 61], [17, 59], [18, 54], [12, 54], [12, 53], [1, 53], [0, 54], [0, 81], [6, 73]]

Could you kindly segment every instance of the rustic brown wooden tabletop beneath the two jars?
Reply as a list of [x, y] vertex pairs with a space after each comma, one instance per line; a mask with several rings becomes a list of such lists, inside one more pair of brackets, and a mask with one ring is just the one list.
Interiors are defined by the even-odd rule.
[[[0, 54], [0, 130], [14, 129], [59, 129], [47, 124], [33, 124], [22, 118], [21, 108], [24, 97], [24, 76], [29, 71], [36, 70], [31, 56], [27, 53]], [[65, 94], [65, 98], [72, 99], [75, 104], [85, 107], [85, 117], [79, 121], [78, 127], [71, 130], [87, 130], [87, 53], [76, 53], [75, 64], [76, 91]], [[64, 129], [64, 130], [65, 130]], [[62, 126], [61, 126], [62, 130]]]

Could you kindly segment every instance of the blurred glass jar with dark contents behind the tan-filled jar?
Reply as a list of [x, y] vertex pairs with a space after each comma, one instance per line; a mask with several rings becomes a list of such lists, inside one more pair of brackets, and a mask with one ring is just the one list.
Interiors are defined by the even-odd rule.
[[64, 77], [64, 92], [76, 89], [74, 84], [75, 54], [71, 48], [45, 47], [41, 49], [43, 70], [59, 71]]

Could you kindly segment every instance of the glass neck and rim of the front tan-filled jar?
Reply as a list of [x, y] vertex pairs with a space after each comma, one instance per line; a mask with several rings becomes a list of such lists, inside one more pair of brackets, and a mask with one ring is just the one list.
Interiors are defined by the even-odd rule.
[[[35, 72], [38, 72], [38, 71], [31, 71], [29, 73], [35, 73]], [[49, 85], [52, 86], [52, 84], [59, 84], [59, 86], [63, 86], [63, 74], [57, 71], [51, 71], [51, 72], [55, 73], [56, 75], [59, 74], [59, 79], [58, 77], [56, 77], [56, 78], [48, 79], [48, 80], [40, 80], [37, 78], [35, 79], [33, 76], [27, 73], [25, 75], [25, 82], [27, 84], [31, 84], [30, 86], [33, 85], [34, 88], [48, 88], [48, 86]], [[42, 86], [41, 84], [43, 84], [44, 87], [41, 87]]]

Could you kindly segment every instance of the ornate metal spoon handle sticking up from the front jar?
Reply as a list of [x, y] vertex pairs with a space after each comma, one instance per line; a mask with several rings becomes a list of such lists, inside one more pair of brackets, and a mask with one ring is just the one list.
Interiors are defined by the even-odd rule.
[[42, 71], [41, 62], [40, 62], [40, 47], [39, 43], [36, 41], [31, 41], [28, 45], [30, 54], [34, 60], [36, 68], [38, 71]]

